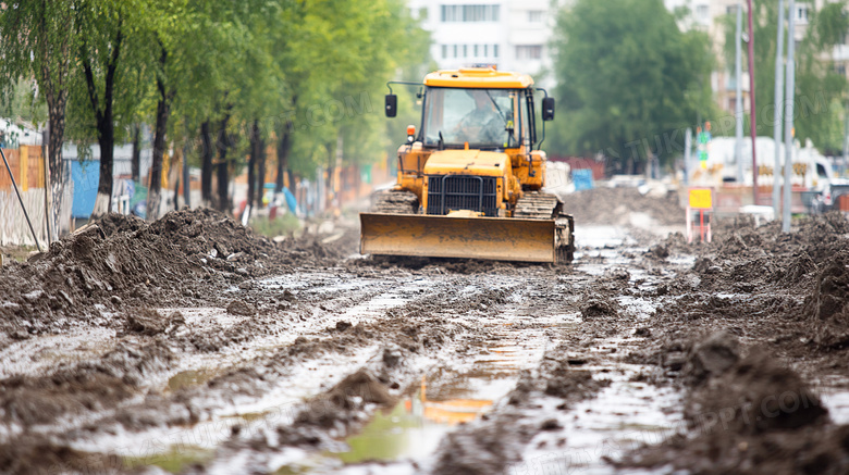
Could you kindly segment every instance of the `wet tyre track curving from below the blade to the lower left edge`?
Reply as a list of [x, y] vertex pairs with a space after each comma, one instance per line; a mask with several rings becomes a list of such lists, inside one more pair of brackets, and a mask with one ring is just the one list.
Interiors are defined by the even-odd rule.
[[[399, 318], [401, 313], [398, 313], [406, 308], [411, 309], [413, 312], [418, 312], [418, 314], [431, 309], [439, 309], [440, 304], [446, 304], [446, 302], [441, 302], [440, 295], [445, 295], [444, 287], [446, 285], [452, 286], [453, 283], [447, 282], [431, 286], [428, 291], [420, 291], [422, 290], [419, 288], [421, 283], [415, 280], [407, 284], [406, 290], [405, 285], [398, 286], [393, 282], [386, 284], [384, 285], [389, 287], [389, 290], [378, 295], [378, 297], [383, 296], [384, 299], [371, 305], [373, 307], [371, 309], [372, 315], [368, 315], [371, 316], [368, 322], [364, 321], [359, 325], [350, 326], [349, 322], [336, 318], [337, 325], [335, 327], [331, 326], [322, 330], [318, 330], [318, 326], [315, 325], [313, 332], [311, 332], [315, 335], [313, 338], [300, 336], [292, 345], [282, 346], [280, 350], [272, 352], [271, 355], [259, 357], [251, 361], [250, 365], [245, 365], [222, 376], [213, 377], [206, 382], [205, 385], [183, 388], [172, 393], [149, 391], [146, 396], [133, 396], [131, 388], [131, 390], [126, 391], [127, 395], [121, 395], [123, 398], [119, 398], [130, 402], [125, 407], [116, 409], [107, 408], [110, 409], [109, 411], [98, 411], [98, 409], [102, 408], [91, 408], [89, 411], [83, 411], [85, 413], [84, 416], [76, 416], [72, 421], [63, 421], [61, 427], [58, 427], [58, 424], [51, 426], [51, 418], [48, 417], [46, 421], [42, 421], [45, 423], [42, 424], [42, 429], [37, 432], [27, 430], [28, 434], [17, 437], [14, 441], [15, 450], [11, 452], [8, 449], [10, 449], [12, 441], [7, 439], [0, 453], [5, 452], [7, 460], [10, 457], [26, 459], [26, 454], [30, 453], [27, 451], [27, 439], [32, 443], [37, 445], [45, 438], [53, 438], [60, 445], [70, 443], [73, 450], [66, 451], [66, 455], [71, 459], [76, 458], [74, 455], [76, 452], [85, 453], [86, 449], [108, 453], [109, 451], [103, 450], [103, 448], [127, 442], [137, 443], [137, 437], [128, 437], [128, 435], [133, 435], [131, 433], [139, 433], [140, 430], [146, 437], [149, 436], [147, 437], [148, 440], [156, 440], [162, 436], [162, 433], [157, 433], [157, 430], [163, 427], [185, 424], [195, 425], [201, 420], [220, 418], [222, 409], [229, 407], [233, 409], [233, 404], [239, 402], [238, 396], [247, 400], [254, 399], [254, 402], [257, 402], [261, 401], [261, 399], [257, 398], [258, 395], [268, 393], [273, 391], [275, 386], [285, 385], [286, 378], [311, 378], [315, 380], [315, 375], [310, 375], [308, 371], [315, 370], [315, 366], [320, 364], [325, 364], [330, 368], [324, 372], [324, 375], [327, 375], [323, 378], [324, 380], [319, 380], [321, 387], [327, 387], [327, 385], [333, 383], [334, 378], [341, 379], [350, 368], [359, 366], [370, 354], [379, 354], [381, 359], [385, 359], [384, 347], [386, 346], [394, 347], [393, 351], [397, 349], [399, 351], [427, 354], [431, 351], [429, 347], [438, 348], [446, 338], [451, 338], [453, 333], [462, 330], [459, 325], [447, 322], [440, 322], [442, 325], [434, 325], [434, 328], [439, 326], [438, 330], [430, 329], [427, 328], [427, 324], [438, 318], [426, 316], [424, 318], [419, 318], [421, 322], [407, 323]], [[411, 297], [406, 300], [396, 299], [399, 300], [398, 302], [387, 301], [391, 299], [385, 298], [386, 295], [397, 296], [405, 292], [410, 293]], [[380, 299], [366, 300], [361, 310], [368, 313], [368, 302], [373, 302], [374, 300]], [[357, 309], [356, 305], [345, 307], [349, 307], [348, 313], [350, 313], [352, 309]], [[334, 315], [336, 314], [334, 313]], [[343, 313], [342, 315], [345, 314]], [[381, 352], [380, 349], [384, 351]], [[391, 360], [393, 357], [390, 355], [389, 358]], [[324, 360], [323, 363], [322, 359]], [[288, 373], [287, 370], [292, 367], [306, 368], [307, 372]], [[160, 373], [162, 371], [167, 371], [167, 367], [160, 368]], [[39, 387], [41, 385], [39, 379], [44, 380], [52, 376], [30, 378], [33, 379], [32, 386]], [[148, 375], [145, 379], [150, 380], [151, 378], [152, 375]], [[318, 387], [310, 388], [312, 391], [316, 389]], [[296, 395], [297, 397], [293, 396], [293, 399], [298, 401], [309, 395], [310, 392], [299, 393]], [[138, 401], [139, 398], [142, 398], [140, 402]], [[78, 410], [81, 408], [58, 408], [57, 412], [59, 414], [56, 414], [57, 418], [52, 418], [52, 421], [58, 421], [58, 417], [64, 415], [64, 413], [75, 413], [76, 411], [73, 411], [73, 409]], [[9, 416], [10, 414], [4, 413], [4, 415]], [[152, 430], [150, 430], [151, 427], [153, 428]], [[159, 448], [168, 449], [168, 447], [161, 447], [161, 445]]]

